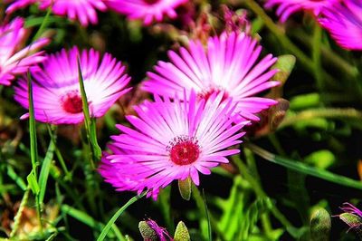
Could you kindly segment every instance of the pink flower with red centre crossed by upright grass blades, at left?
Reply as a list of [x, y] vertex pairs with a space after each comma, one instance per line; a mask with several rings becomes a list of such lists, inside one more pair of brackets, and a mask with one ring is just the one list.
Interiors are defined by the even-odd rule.
[[[50, 54], [40, 68], [33, 69], [33, 104], [35, 120], [53, 124], [75, 124], [84, 119], [78, 77], [77, 58], [80, 58], [84, 89], [89, 103], [90, 116], [101, 117], [110, 106], [129, 89], [129, 76], [125, 67], [105, 53], [90, 49], [81, 53], [77, 47], [69, 52], [62, 49]], [[14, 88], [14, 99], [28, 109], [28, 87], [25, 79]], [[25, 114], [22, 118], [26, 118]]]

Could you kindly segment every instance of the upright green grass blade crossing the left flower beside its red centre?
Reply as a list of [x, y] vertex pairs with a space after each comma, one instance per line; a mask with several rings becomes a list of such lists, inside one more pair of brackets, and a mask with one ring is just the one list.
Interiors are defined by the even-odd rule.
[[94, 118], [90, 118], [90, 109], [88, 105], [87, 94], [84, 89], [84, 80], [81, 74], [81, 61], [77, 59], [78, 64], [78, 76], [81, 88], [81, 101], [83, 107], [83, 114], [84, 114], [84, 126], [87, 132], [87, 138], [90, 141], [90, 148], [95, 159], [100, 159], [101, 156], [101, 149], [98, 145], [97, 141], [97, 129], [96, 129], [96, 121]]

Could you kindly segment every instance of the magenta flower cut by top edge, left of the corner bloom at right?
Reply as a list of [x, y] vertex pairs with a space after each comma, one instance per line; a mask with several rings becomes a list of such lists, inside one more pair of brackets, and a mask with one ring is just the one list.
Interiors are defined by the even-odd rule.
[[329, 7], [337, 5], [341, 0], [266, 0], [265, 7], [271, 8], [278, 5], [276, 14], [281, 17], [284, 23], [291, 14], [300, 11], [308, 11], [317, 16], [320, 12]]

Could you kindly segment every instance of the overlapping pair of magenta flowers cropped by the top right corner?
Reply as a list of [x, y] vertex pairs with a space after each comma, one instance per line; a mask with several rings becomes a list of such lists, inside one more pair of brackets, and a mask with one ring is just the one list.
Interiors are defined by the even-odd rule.
[[361, 0], [266, 0], [266, 7], [274, 5], [281, 22], [295, 12], [311, 12], [341, 47], [362, 50]]

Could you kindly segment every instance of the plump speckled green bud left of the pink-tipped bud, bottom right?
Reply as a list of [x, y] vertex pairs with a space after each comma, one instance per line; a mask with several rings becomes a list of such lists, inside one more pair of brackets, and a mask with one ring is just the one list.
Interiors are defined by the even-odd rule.
[[330, 234], [330, 215], [323, 207], [318, 207], [310, 217], [310, 240], [328, 241]]

